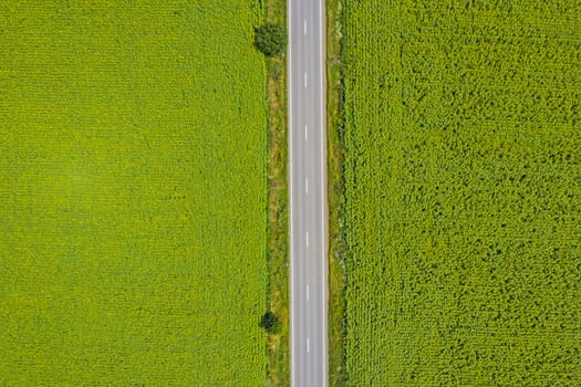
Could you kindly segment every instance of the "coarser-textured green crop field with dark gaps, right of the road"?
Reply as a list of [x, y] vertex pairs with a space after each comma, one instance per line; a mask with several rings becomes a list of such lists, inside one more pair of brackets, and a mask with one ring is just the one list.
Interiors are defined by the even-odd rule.
[[581, 385], [580, 21], [343, 1], [346, 385]]

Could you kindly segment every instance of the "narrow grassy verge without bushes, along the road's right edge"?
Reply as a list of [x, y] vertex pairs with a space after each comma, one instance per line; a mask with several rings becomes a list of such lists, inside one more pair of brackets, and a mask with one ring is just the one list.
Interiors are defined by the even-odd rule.
[[326, 122], [329, 200], [329, 381], [343, 386], [344, 284], [341, 208], [344, 200], [341, 154], [341, 0], [326, 1]]

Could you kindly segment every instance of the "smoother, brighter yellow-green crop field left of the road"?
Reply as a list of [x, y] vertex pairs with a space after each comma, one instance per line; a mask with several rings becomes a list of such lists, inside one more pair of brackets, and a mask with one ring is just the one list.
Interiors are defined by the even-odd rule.
[[262, 18], [0, 4], [0, 385], [264, 384]]

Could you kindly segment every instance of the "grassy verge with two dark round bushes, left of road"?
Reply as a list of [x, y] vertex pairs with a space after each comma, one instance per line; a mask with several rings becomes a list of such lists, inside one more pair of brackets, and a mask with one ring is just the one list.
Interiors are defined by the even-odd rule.
[[[267, 21], [286, 23], [284, 0], [268, 0]], [[267, 60], [268, 67], [268, 239], [267, 306], [282, 320], [282, 331], [267, 342], [267, 380], [290, 385], [289, 233], [287, 184], [287, 56]]]

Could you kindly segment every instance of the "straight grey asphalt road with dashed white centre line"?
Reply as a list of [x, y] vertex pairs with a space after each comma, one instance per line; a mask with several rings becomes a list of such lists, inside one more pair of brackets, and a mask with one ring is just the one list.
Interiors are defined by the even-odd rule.
[[324, 0], [289, 0], [292, 386], [326, 386]]

